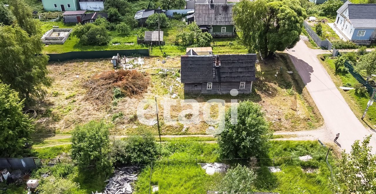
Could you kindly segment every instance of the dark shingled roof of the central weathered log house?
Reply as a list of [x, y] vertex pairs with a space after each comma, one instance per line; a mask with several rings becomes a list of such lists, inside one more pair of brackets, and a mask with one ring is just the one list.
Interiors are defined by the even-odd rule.
[[256, 80], [256, 54], [246, 55], [217, 55], [221, 65], [215, 68], [213, 77], [213, 61], [211, 55], [182, 55], [181, 82], [250, 82]]

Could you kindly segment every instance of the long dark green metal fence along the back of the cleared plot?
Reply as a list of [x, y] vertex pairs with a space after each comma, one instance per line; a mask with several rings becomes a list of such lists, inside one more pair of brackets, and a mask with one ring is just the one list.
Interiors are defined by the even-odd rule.
[[128, 49], [128, 50], [96, 50], [96, 51], [72, 51], [59, 54], [47, 54], [50, 61], [68, 61], [73, 59], [100, 59], [112, 58], [119, 55], [141, 55], [149, 56], [149, 49]]

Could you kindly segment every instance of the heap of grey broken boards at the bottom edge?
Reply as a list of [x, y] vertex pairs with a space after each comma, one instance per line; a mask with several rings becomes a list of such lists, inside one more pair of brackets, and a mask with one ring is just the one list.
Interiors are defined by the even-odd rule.
[[[116, 168], [114, 175], [106, 180], [108, 182], [105, 191], [96, 194], [131, 194], [133, 192], [131, 183], [137, 180], [136, 172], [139, 167]], [[92, 192], [94, 194], [94, 192]]]

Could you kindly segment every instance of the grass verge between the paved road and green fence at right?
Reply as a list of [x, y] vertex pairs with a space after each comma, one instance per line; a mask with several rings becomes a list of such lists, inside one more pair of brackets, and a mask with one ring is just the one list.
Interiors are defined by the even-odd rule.
[[[324, 55], [319, 55], [318, 59], [323, 64], [324, 68], [326, 68], [329, 75], [332, 77], [335, 85], [337, 87], [351, 85], [351, 87], [355, 86], [359, 82], [353, 77], [350, 73], [335, 73], [335, 65], [334, 65], [334, 58], [329, 56], [322, 61]], [[367, 96], [361, 96], [355, 93], [355, 90], [343, 91], [339, 89], [341, 94], [343, 95], [346, 102], [349, 104], [352, 111], [355, 113], [356, 117], [360, 118], [367, 107], [367, 102], [370, 99], [369, 94]], [[376, 124], [376, 108], [374, 106], [370, 106], [368, 108], [367, 115], [365, 115], [364, 121], [368, 125], [375, 125]]]

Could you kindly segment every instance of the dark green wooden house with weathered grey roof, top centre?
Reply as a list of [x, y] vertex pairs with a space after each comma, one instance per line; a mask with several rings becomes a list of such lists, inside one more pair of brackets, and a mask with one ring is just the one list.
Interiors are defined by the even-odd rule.
[[233, 5], [226, 3], [196, 3], [194, 21], [203, 32], [209, 32], [212, 36], [234, 36]]

